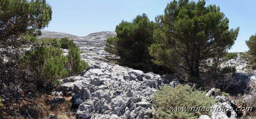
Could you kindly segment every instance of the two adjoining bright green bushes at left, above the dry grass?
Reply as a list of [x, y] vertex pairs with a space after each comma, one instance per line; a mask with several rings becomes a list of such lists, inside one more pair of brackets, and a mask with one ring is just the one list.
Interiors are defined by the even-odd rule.
[[70, 47], [66, 56], [60, 47], [61, 44], [56, 38], [42, 38], [25, 52], [19, 66], [22, 69], [37, 71], [34, 73], [52, 82], [58, 82], [60, 78], [78, 74], [87, 68], [87, 62], [80, 58], [78, 46]]

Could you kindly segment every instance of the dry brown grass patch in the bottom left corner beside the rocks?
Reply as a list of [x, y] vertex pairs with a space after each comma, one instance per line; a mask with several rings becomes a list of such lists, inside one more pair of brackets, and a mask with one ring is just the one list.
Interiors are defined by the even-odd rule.
[[20, 102], [19, 105], [12, 105], [6, 107], [5, 109], [0, 109], [0, 118], [1, 119], [26, 119], [26, 118], [44, 118], [48, 119], [50, 114], [59, 115], [57, 119], [74, 119], [72, 116], [73, 110], [71, 109], [72, 103], [70, 102], [71, 97], [64, 97], [65, 102], [61, 104], [47, 104], [55, 96], [51, 95], [42, 95], [36, 101], [36, 104], [31, 104]]

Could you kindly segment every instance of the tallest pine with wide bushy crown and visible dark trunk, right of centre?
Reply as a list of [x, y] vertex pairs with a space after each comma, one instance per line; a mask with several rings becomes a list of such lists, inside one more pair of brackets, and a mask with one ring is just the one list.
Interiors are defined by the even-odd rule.
[[211, 67], [206, 59], [218, 61], [234, 44], [239, 31], [229, 30], [229, 20], [219, 6], [205, 6], [204, 0], [174, 0], [156, 21], [160, 28], [154, 30], [156, 43], [149, 48], [153, 61], [168, 67], [179, 66], [192, 77], [199, 77], [201, 69]]

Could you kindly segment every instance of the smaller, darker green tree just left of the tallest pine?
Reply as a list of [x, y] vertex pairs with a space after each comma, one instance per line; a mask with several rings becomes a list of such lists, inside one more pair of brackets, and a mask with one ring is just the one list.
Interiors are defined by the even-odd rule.
[[116, 60], [119, 65], [150, 71], [156, 66], [148, 51], [148, 46], [153, 43], [155, 27], [156, 24], [145, 13], [137, 15], [132, 22], [122, 21], [116, 26], [117, 35], [107, 38], [104, 50], [119, 56], [120, 59]]

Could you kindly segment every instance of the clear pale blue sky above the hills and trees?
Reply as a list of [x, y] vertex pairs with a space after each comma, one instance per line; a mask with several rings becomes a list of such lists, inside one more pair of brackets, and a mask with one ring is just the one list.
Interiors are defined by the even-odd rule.
[[[197, 0], [194, 0], [197, 1]], [[146, 13], [150, 20], [163, 14], [171, 0], [46, 0], [53, 10], [49, 27], [44, 30], [87, 36], [99, 31], [114, 31], [122, 20], [131, 21]], [[244, 52], [245, 40], [256, 33], [256, 0], [207, 0], [220, 6], [229, 19], [229, 28], [240, 27], [229, 52]]]

